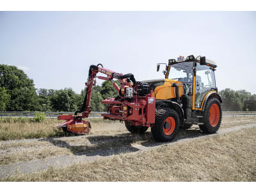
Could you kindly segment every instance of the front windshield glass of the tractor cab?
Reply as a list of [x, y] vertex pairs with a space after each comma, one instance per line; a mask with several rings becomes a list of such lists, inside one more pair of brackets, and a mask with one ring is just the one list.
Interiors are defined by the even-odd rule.
[[168, 78], [182, 81], [183, 83], [192, 83], [193, 61], [176, 63], [171, 65]]

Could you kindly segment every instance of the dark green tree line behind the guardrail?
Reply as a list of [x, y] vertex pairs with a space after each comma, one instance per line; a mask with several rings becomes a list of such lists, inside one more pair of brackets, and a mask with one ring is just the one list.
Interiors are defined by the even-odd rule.
[[[119, 83], [119, 81], [116, 81]], [[12, 65], [0, 65], [0, 111], [76, 111], [83, 105], [85, 90], [35, 88], [33, 79]], [[256, 111], [256, 95], [246, 90], [221, 90], [223, 111]], [[93, 87], [92, 111], [104, 111], [101, 100], [118, 93], [109, 81]]]

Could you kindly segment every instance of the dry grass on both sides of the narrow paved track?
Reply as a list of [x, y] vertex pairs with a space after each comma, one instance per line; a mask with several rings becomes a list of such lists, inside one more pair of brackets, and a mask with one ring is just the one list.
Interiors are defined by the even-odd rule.
[[[42, 123], [0, 124], [0, 165], [34, 161], [56, 156], [80, 156], [98, 150], [133, 145], [154, 144], [150, 129], [141, 135], [132, 135], [120, 122], [91, 119], [92, 130], [88, 136], [58, 137], [63, 132], [55, 127], [57, 120]], [[220, 129], [256, 123], [255, 116], [223, 117]], [[256, 127], [255, 127], [256, 128]], [[51, 134], [52, 132], [52, 134]], [[197, 125], [180, 130], [177, 138], [200, 136]], [[36, 136], [35, 136], [36, 135]], [[12, 136], [12, 137], [10, 137]], [[54, 136], [55, 138], [51, 138]], [[56, 137], [57, 136], [57, 137]], [[102, 158], [67, 168], [18, 174], [3, 180], [253, 180], [255, 179], [256, 129], [243, 129], [172, 146], [164, 144], [147, 152]], [[17, 140], [40, 138], [36, 140]], [[73, 177], [74, 175], [74, 177]], [[164, 176], [165, 175], [165, 176]]]

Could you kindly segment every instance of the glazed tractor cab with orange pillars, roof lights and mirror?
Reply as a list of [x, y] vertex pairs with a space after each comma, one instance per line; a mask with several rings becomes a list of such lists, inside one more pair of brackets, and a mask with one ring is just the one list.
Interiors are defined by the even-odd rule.
[[[200, 58], [197, 60], [197, 58]], [[163, 74], [165, 81], [172, 79], [181, 82], [184, 88], [184, 95], [191, 98], [192, 102], [189, 104], [192, 109], [201, 109], [202, 104], [207, 93], [213, 91], [217, 92], [214, 70], [216, 70], [216, 63], [211, 60], [206, 60], [205, 57], [193, 55], [179, 56], [177, 60], [170, 59], [168, 65], [165, 63], [157, 64], [157, 71], [161, 64], [165, 64]]]

